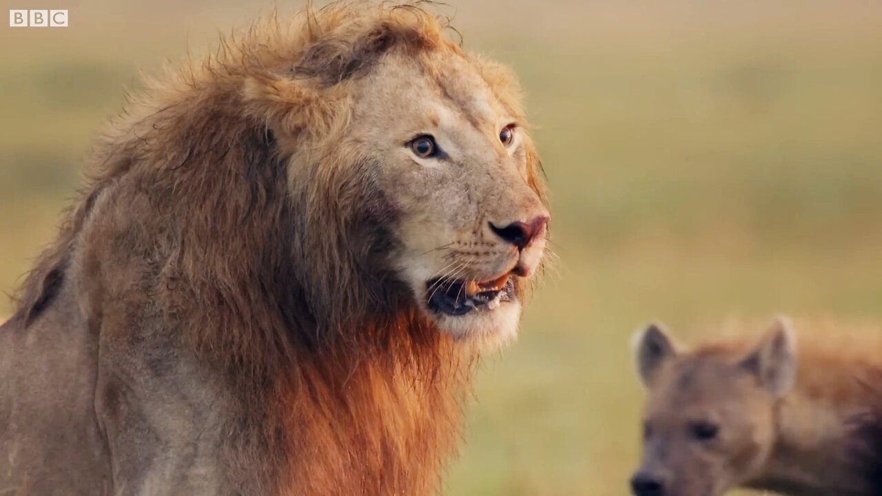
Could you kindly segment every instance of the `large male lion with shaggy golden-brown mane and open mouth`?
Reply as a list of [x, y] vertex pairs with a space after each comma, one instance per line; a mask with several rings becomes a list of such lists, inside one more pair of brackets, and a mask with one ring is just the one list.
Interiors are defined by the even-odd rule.
[[130, 98], [0, 329], [0, 488], [437, 492], [549, 229], [519, 84], [447, 33], [271, 16]]

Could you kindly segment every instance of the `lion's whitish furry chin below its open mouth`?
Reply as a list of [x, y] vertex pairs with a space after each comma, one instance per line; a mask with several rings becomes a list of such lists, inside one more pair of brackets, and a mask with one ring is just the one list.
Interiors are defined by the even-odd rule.
[[494, 308], [483, 305], [462, 315], [431, 312], [438, 329], [458, 342], [494, 349], [512, 342], [518, 335], [520, 302], [516, 298]]

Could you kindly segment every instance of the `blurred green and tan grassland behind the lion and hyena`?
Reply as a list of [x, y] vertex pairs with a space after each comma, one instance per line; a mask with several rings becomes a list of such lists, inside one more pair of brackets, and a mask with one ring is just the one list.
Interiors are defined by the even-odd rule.
[[[519, 342], [482, 366], [445, 494], [625, 494], [628, 342], [649, 319], [695, 338], [731, 315], [882, 316], [882, 4], [449, 1], [466, 47], [526, 88], [560, 260]], [[0, 28], [9, 293], [123, 87], [273, 4], [7, 8], [70, 11], [66, 29]]]

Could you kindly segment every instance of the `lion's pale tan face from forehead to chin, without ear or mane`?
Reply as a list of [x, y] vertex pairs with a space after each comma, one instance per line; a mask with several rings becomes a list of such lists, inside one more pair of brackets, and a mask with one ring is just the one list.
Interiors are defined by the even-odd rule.
[[519, 285], [539, 267], [549, 211], [519, 102], [456, 53], [385, 56], [353, 95], [351, 143], [396, 212], [391, 263], [416, 304], [457, 337], [516, 333]]

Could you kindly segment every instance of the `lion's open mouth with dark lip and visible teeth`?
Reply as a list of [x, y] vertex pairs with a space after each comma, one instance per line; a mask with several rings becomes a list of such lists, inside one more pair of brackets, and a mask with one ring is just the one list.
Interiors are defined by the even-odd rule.
[[500, 303], [512, 301], [514, 281], [505, 274], [490, 281], [441, 281], [426, 282], [426, 297], [433, 312], [447, 315], [465, 315], [478, 308], [495, 310]]

